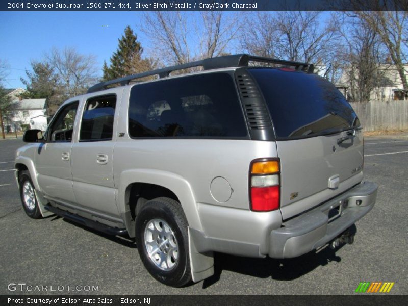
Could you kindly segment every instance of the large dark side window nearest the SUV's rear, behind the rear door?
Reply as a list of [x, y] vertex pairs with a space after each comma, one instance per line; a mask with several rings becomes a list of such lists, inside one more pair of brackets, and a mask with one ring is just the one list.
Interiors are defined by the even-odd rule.
[[129, 103], [131, 137], [247, 137], [235, 83], [227, 73], [135, 85]]

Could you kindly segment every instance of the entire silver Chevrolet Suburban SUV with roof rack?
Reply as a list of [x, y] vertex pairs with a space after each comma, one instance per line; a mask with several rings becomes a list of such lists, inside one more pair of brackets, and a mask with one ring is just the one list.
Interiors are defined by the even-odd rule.
[[313, 69], [233, 55], [97, 84], [44, 136], [24, 134], [23, 208], [134, 237], [149, 273], [175, 287], [211, 276], [213, 252], [351, 244], [377, 185], [363, 180], [359, 119]]

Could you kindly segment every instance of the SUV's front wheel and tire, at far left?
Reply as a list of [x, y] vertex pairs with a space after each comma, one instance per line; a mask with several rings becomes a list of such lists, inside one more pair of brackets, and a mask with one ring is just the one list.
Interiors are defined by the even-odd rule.
[[38, 208], [37, 197], [34, 193], [34, 184], [31, 181], [30, 172], [28, 170], [21, 171], [19, 176], [20, 182], [20, 198], [22, 207], [30, 218], [39, 219], [41, 218], [41, 212]]

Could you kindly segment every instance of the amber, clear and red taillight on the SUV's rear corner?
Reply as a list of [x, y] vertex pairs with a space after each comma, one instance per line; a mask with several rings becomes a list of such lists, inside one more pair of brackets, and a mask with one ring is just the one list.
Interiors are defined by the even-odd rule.
[[269, 212], [278, 209], [281, 198], [279, 161], [277, 159], [254, 160], [249, 170], [251, 210]]

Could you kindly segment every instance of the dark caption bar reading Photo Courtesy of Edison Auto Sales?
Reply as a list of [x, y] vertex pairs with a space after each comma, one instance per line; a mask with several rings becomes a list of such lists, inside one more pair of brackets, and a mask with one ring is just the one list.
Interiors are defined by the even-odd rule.
[[135, 295], [135, 296], [63, 296], [63, 295], [30, 295], [30, 296], [0, 296], [0, 304], [2, 306], [77, 306], [77, 305], [111, 305], [111, 306], [191, 306], [191, 305], [330, 305], [330, 306], [385, 306], [385, 305], [405, 305], [405, 296], [390, 296], [390, 295], [345, 295], [345, 296], [282, 296], [282, 295]]

